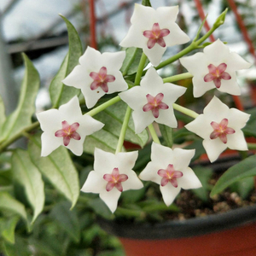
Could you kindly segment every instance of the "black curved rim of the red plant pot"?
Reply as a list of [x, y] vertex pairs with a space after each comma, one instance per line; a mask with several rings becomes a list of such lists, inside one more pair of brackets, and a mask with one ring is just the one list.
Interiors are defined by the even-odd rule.
[[243, 224], [256, 222], [256, 204], [241, 207], [229, 212], [211, 214], [184, 220], [168, 220], [159, 224], [118, 223], [98, 218], [103, 230], [114, 236], [132, 239], [175, 239], [189, 236], [202, 236], [212, 232], [230, 230]]

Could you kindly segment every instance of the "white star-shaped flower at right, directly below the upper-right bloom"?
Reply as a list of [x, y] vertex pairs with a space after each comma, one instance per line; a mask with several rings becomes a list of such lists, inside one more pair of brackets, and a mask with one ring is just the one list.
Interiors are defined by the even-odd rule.
[[185, 127], [203, 138], [203, 146], [213, 162], [226, 148], [247, 150], [241, 128], [249, 118], [249, 114], [229, 108], [214, 96], [203, 113]]

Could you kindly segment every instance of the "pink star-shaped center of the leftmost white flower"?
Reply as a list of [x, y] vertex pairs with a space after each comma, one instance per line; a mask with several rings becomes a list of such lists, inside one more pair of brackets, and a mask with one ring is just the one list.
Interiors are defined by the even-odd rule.
[[80, 140], [81, 137], [78, 132], [79, 123], [73, 123], [68, 125], [67, 121], [61, 122], [62, 129], [55, 132], [55, 137], [63, 137], [63, 143], [67, 146], [70, 143], [70, 139]]

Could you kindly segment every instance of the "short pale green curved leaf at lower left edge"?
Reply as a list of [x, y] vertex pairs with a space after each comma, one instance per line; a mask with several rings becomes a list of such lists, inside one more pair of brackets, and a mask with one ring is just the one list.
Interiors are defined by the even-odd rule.
[[21, 218], [27, 220], [26, 210], [20, 201], [15, 200], [9, 193], [1, 191], [0, 192], [0, 209], [8, 210], [20, 215]]

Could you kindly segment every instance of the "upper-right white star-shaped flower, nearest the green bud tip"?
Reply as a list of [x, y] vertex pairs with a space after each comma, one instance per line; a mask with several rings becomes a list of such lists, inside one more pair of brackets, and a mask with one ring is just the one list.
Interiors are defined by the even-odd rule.
[[195, 97], [213, 88], [231, 95], [240, 95], [236, 71], [251, 67], [240, 55], [230, 52], [228, 46], [219, 39], [205, 47], [203, 53], [183, 57], [180, 62], [194, 76], [192, 82]]

